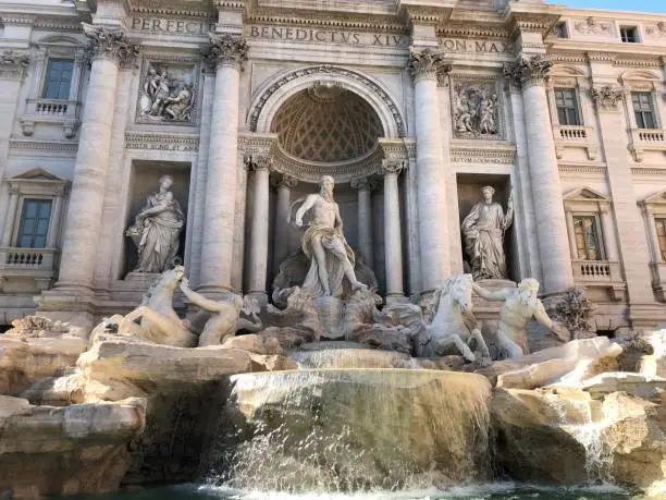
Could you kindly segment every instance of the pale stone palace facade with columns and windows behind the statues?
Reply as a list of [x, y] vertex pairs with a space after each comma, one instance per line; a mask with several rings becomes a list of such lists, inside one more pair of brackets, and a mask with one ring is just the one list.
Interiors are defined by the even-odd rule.
[[666, 16], [539, 0], [5, 0], [0, 324], [134, 307], [158, 179], [193, 286], [261, 301], [291, 204], [335, 179], [387, 300], [466, 269], [492, 185], [507, 278], [585, 286], [595, 328], [666, 321]]

